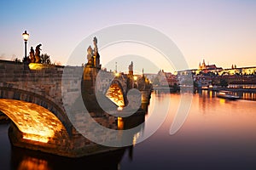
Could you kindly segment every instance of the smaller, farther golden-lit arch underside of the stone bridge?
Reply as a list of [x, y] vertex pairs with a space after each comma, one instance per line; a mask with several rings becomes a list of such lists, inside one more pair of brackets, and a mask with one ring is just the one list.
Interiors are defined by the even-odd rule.
[[124, 95], [122, 93], [122, 89], [119, 87], [118, 84], [113, 83], [109, 88], [108, 92], [106, 93], [106, 96], [108, 99], [113, 101], [115, 105], [118, 105], [119, 107], [125, 106], [125, 99]]

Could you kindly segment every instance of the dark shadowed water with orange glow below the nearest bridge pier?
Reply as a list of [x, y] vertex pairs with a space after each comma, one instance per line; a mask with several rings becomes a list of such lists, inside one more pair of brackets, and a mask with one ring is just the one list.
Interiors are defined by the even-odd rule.
[[126, 152], [132, 159], [132, 147], [124, 147], [112, 152], [80, 158], [67, 158], [46, 154], [36, 150], [26, 150], [9, 144], [9, 124], [0, 124], [0, 169], [54, 170], [54, 169], [119, 169], [119, 161]]

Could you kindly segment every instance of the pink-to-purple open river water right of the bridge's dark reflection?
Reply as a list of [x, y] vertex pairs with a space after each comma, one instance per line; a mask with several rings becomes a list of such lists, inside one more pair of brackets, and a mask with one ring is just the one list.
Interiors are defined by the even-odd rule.
[[[149, 139], [134, 147], [133, 161], [121, 161], [125, 169], [256, 169], [256, 105], [254, 101], [219, 99], [214, 91], [194, 94], [183, 127], [169, 130], [179, 106], [179, 94], [153, 94], [158, 114], [166, 110], [166, 121]], [[147, 124], [145, 125], [146, 128]]]

